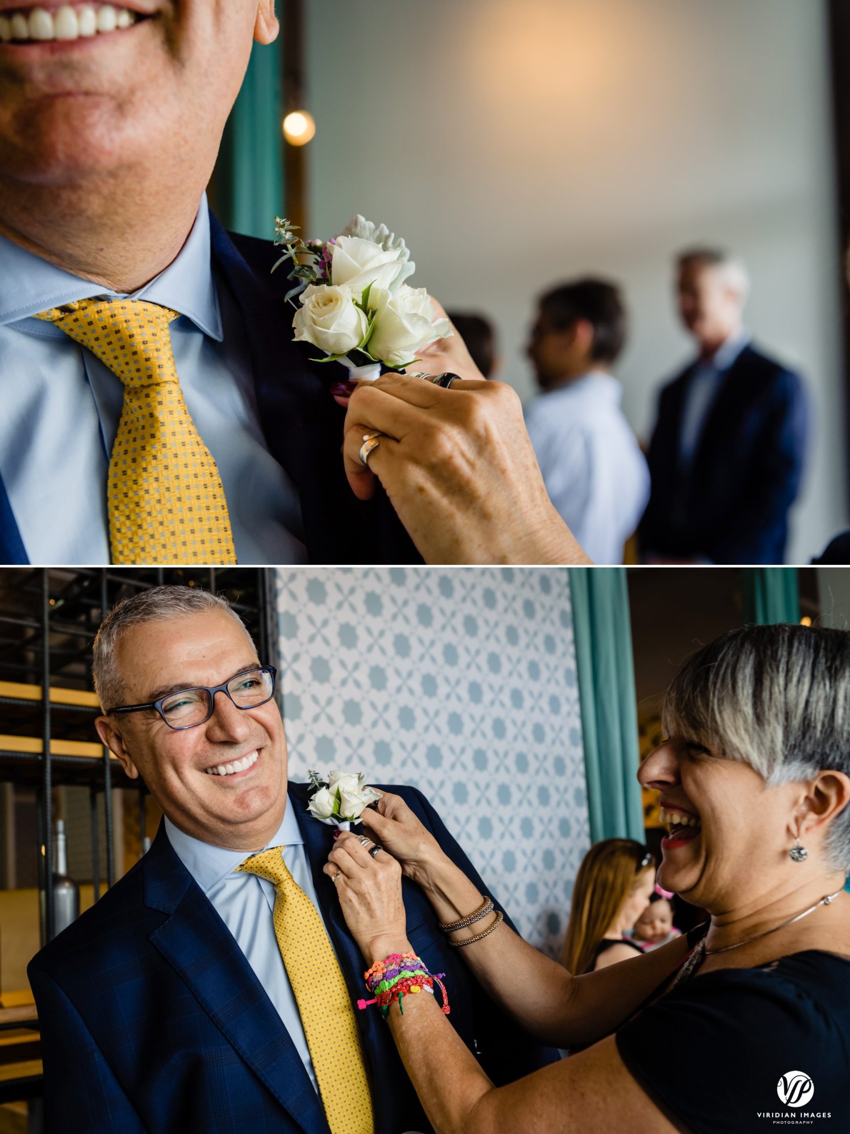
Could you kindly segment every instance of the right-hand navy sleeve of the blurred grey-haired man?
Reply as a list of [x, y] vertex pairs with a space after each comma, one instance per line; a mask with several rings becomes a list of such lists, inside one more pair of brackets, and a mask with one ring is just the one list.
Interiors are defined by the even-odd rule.
[[719, 562], [773, 562], [775, 532], [800, 489], [808, 405], [802, 382], [781, 371], [765, 398], [753, 474], [741, 484], [731, 521], [713, 541]]

